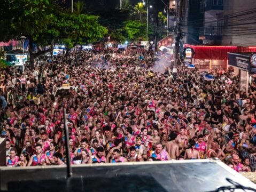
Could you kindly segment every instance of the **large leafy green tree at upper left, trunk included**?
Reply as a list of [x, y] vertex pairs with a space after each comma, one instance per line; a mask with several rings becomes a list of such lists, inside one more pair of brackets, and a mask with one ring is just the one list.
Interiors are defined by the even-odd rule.
[[107, 33], [107, 29], [99, 25], [98, 17], [68, 13], [50, 0], [2, 0], [0, 16], [1, 41], [18, 39], [21, 35], [29, 39], [32, 68], [38, 55], [52, 50], [33, 52], [35, 43], [45, 46], [53, 45], [53, 41], [68, 42], [71, 47], [96, 41]]

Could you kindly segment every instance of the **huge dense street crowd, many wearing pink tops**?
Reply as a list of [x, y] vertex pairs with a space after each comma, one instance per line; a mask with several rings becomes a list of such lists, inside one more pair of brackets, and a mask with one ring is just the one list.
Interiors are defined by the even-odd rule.
[[255, 82], [246, 94], [231, 69], [206, 81], [184, 65], [174, 76], [171, 63], [144, 49], [103, 49], [1, 69], [6, 165], [65, 164], [66, 108], [72, 164], [218, 157], [254, 171]]

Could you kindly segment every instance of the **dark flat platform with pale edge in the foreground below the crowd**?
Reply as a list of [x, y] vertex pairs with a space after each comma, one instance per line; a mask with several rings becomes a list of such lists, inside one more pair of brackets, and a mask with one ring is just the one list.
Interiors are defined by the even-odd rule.
[[[255, 188], [251, 181], [220, 161], [191, 160], [72, 166], [2, 167], [2, 191], [214, 191], [235, 182]], [[238, 185], [238, 184], [235, 184]]]

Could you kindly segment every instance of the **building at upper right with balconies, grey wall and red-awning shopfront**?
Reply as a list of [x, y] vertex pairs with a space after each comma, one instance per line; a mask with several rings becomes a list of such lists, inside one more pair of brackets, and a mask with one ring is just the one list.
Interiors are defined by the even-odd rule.
[[[195, 0], [184, 1], [195, 3]], [[190, 3], [188, 19], [183, 24], [188, 34], [184, 47], [195, 51], [192, 62], [197, 68], [227, 69], [228, 52], [256, 52], [255, 0], [200, 0], [201, 22], [189, 18], [193, 11]], [[199, 33], [199, 43], [191, 42], [191, 30]]]

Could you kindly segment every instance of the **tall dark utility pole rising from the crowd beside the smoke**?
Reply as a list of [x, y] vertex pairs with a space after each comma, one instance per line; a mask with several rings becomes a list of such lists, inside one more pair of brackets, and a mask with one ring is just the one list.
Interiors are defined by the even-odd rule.
[[[179, 9], [177, 9], [177, 21], [176, 21], [176, 37], [175, 37], [175, 60], [173, 66], [173, 78], [174, 80], [177, 77], [177, 62], [179, 60], [179, 51], [180, 51], [180, 42], [181, 42], [181, 18], [182, 18], [182, 11], [183, 11], [183, 2], [184, 0], [179, 0]], [[177, 7], [178, 8], [178, 7]]]

